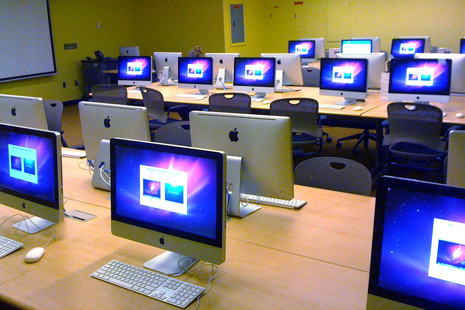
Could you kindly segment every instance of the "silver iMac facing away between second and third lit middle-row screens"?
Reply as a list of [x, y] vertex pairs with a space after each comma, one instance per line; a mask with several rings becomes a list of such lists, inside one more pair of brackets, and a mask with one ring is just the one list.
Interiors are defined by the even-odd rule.
[[240, 57], [239, 53], [205, 53], [205, 57], [213, 58], [213, 74], [217, 81], [215, 88], [229, 89], [225, 83], [233, 83], [234, 58]]

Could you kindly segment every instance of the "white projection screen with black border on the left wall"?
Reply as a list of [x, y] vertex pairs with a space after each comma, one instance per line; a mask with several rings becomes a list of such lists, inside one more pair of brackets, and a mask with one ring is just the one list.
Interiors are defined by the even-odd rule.
[[48, 0], [0, 0], [0, 82], [56, 73]]

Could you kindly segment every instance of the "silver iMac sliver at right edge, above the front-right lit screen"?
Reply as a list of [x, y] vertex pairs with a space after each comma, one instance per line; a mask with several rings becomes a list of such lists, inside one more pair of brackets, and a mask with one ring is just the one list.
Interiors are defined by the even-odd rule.
[[449, 133], [447, 184], [465, 187], [465, 130], [451, 130]]

